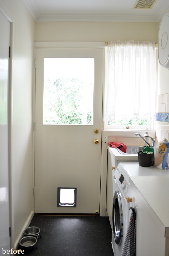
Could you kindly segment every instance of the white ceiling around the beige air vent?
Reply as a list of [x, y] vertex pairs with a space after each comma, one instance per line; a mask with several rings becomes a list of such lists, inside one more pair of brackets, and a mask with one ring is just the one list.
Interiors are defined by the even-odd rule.
[[35, 21], [158, 22], [169, 10], [169, 0], [157, 0], [152, 9], [133, 9], [136, 0], [23, 1]]

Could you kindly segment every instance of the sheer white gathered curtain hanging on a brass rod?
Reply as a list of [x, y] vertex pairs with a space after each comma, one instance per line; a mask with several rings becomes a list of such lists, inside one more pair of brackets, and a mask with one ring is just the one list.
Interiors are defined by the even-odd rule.
[[104, 120], [156, 118], [155, 43], [108, 43]]

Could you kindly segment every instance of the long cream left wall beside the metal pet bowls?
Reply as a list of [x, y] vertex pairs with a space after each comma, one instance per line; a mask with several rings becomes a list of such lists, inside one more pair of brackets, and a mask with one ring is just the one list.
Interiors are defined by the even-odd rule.
[[32, 212], [32, 76], [35, 21], [22, 0], [3, 0], [14, 21], [11, 125], [12, 247]]

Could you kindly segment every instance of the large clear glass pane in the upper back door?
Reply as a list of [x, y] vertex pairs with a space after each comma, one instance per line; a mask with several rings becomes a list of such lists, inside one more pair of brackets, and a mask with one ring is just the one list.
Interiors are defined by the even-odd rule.
[[94, 58], [45, 58], [43, 124], [93, 124]]

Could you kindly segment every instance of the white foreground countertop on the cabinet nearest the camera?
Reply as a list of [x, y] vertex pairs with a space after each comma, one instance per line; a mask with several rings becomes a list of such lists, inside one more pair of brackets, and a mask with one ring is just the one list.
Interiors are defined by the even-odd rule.
[[169, 237], [169, 177], [130, 176], [129, 182], [137, 187], [160, 220], [164, 236]]

